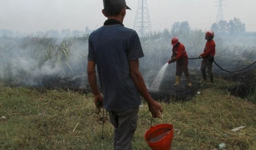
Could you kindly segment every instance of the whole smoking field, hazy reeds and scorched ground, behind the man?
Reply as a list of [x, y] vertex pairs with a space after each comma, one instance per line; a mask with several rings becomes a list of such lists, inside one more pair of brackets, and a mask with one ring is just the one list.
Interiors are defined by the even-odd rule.
[[[255, 98], [256, 65], [238, 73], [224, 72], [214, 65], [215, 82], [211, 84], [210, 82], [200, 83], [201, 60], [189, 61], [192, 87], [187, 86], [184, 74], [180, 86], [173, 86], [176, 72], [176, 63], [174, 63], [167, 66], [159, 91], [151, 90], [150, 86], [158, 72], [170, 59], [172, 36], [180, 38], [189, 58], [198, 57], [206, 43], [202, 30], [178, 35], [163, 32], [141, 38], [145, 57], [140, 59], [140, 72], [155, 100], [188, 101], [198, 92], [211, 87], [220, 88], [228, 94], [241, 98], [250, 100]], [[226, 40], [222, 35], [216, 34], [214, 40], [216, 42], [215, 61], [226, 70], [239, 70], [252, 64], [256, 59], [254, 38], [250, 37], [250, 40], [247, 40], [246, 37], [236, 37]], [[50, 38], [47, 35], [25, 38], [2, 37], [0, 52], [0, 82], [3, 86], [90, 92], [86, 73], [88, 35], [64, 39]]]

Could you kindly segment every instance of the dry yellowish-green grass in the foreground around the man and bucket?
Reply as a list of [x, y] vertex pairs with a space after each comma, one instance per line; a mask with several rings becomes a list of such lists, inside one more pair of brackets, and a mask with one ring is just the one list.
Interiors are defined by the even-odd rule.
[[[174, 132], [173, 150], [212, 150], [226, 143], [227, 150], [256, 149], [256, 104], [231, 96], [217, 79], [188, 102], [161, 102], [162, 118], [152, 124], [169, 123]], [[96, 150], [102, 126], [97, 123], [91, 94], [63, 90], [0, 87], [1, 150]], [[139, 116], [148, 111], [146, 104]], [[150, 128], [148, 113], [138, 120], [134, 150], [150, 150], [143, 139]], [[77, 127], [76, 127], [77, 126]], [[230, 131], [246, 126], [236, 132]], [[76, 127], [76, 128], [75, 128]], [[102, 150], [112, 149], [113, 127], [104, 124]]]

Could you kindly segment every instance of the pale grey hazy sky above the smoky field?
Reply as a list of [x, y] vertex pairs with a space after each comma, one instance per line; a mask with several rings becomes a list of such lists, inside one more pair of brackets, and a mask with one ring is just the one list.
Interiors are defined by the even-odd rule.
[[[170, 29], [188, 21], [192, 28], [208, 30], [215, 22], [218, 0], [147, 0], [152, 30]], [[124, 25], [133, 28], [138, 0], [126, 0]], [[223, 1], [224, 20], [240, 18], [246, 31], [256, 31], [256, 1]], [[0, 29], [36, 32], [54, 29], [91, 30], [102, 26], [102, 0], [0, 0]]]

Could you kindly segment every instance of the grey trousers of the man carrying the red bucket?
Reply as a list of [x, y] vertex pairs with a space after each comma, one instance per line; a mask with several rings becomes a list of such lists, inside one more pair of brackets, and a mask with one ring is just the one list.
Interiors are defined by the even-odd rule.
[[114, 150], [132, 150], [132, 138], [137, 128], [139, 107], [123, 112], [108, 111], [114, 125]]

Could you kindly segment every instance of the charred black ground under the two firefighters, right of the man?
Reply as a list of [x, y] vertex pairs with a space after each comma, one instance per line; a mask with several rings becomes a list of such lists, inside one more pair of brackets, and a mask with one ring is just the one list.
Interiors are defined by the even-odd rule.
[[[245, 66], [241, 66], [245, 67]], [[214, 83], [211, 83], [209, 79], [206, 82], [200, 82], [201, 72], [198, 70], [190, 69], [190, 80], [192, 86], [187, 86], [187, 81], [182, 75], [179, 86], [174, 86], [175, 83], [175, 67], [167, 68], [164, 78], [160, 84], [158, 92], [150, 91], [151, 96], [155, 100], [164, 102], [172, 101], [188, 101], [191, 100], [196, 94], [200, 94], [200, 91], [207, 88], [220, 88], [223, 91], [228, 92], [234, 96], [240, 98], [256, 98], [256, 67], [252, 66], [251, 69], [244, 70], [238, 73], [227, 73], [220, 70], [216, 65], [213, 68]], [[151, 78], [154, 80], [154, 77]], [[254, 96], [254, 97], [253, 97]]]

